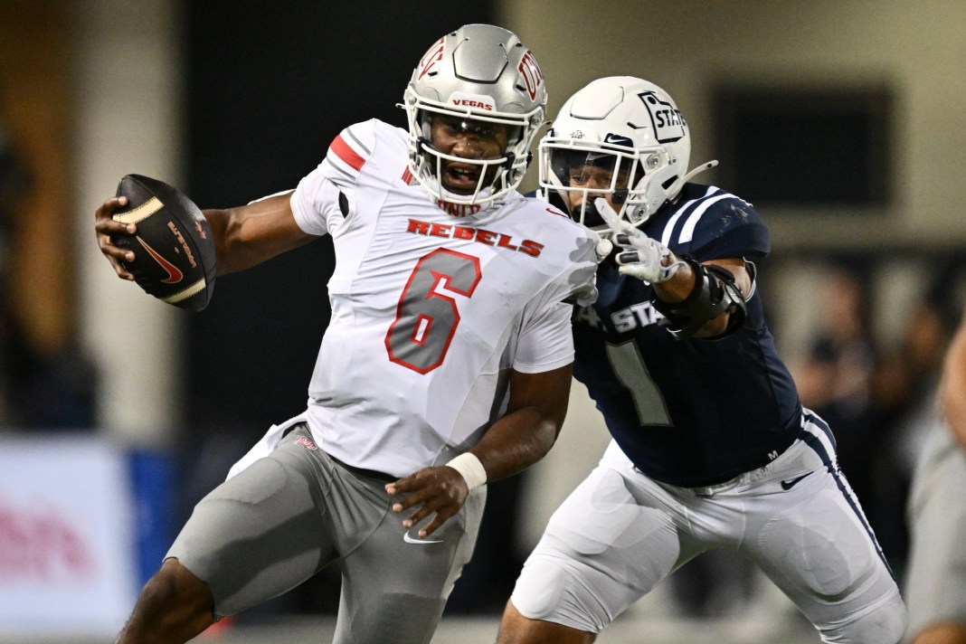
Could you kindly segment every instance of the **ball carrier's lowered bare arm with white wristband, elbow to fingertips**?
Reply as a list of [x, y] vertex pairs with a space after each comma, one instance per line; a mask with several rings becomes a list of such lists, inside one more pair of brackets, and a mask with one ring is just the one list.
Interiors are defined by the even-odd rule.
[[[511, 373], [506, 413], [469, 450], [470, 462], [477, 460], [467, 474], [473, 487], [523, 471], [550, 451], [567, 414], [572, 374], [572, 365], [542, 374]], [[400, 496], [392, 506], [393, 512], [406, 513], [415, 508], [403, 520], [407, 529], [435, 513], [419, 530], [420, 537], [432, 534], [456, 515], [469, 495], [465, 475], [447, 465], [423, 467], [390, 483], [385, 490], [391, 496]]]

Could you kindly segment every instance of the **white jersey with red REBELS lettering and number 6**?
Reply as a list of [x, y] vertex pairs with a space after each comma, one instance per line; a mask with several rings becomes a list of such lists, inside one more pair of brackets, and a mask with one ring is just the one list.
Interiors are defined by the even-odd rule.
[[350, 126], [292, 195], [298, 225], [330, 235], [336, 257], [298, 419], [336, 459], [399, 477], [472, 447], [511, 368], [573, 361], [564, 300], [592, 290], [596, 268], [590, 234], [546, 203], [437, 203], [407, 158], [404, 130]]

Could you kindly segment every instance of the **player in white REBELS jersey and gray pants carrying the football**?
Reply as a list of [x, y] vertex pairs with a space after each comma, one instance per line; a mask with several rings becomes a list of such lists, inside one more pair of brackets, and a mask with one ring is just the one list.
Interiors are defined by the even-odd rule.
[[[485, 483], [536, 462], [566, 412], [568, 301], [591, 298], [596, 238], [517, 192], [545, 117], [512, 33], [467, 25], [426, 52], [409, 132], [345, 128], [291, 192], [205, 210], [219, 273], [332, 238], [332, 316], [308, 408], [273, 426], [198, 503], [119, 642], [184, 642], [343, 575], [336, 642], [428, 642], [469, 560]], [[97, 213], [110, 234], [124, 200]]]

